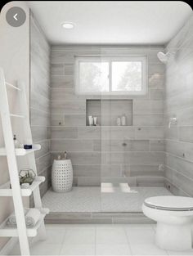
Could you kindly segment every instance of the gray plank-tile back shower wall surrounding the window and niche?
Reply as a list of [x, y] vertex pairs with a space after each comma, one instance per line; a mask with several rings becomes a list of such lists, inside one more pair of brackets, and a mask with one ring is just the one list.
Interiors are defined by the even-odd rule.
[[[74, 184], [96, 186], [104, 182], [164, 185], [164, 69], [157, 52], [164, 47], [52, 46], [51, 151], [52, 158], [68, 152]], [[146, 55], [148, 93], [133, 97], [79, 96], [74, 90], [74, 56]], [[129, 99], [132, 126], [87, 127], [87, 99]], [[125, 113], [130, 115], [131, 113]], [[111, 113], [112, 114], [112, 113]], [[103, 112], [102, 112], [103, 115]], [[47, 116], [44, 117], [47, 124]], [[37, 137], [43, 134], [38, 131]], [[45, 137], [45, 134], [43, 135]], [[127, 143], [123, 146], [123, 142]]]

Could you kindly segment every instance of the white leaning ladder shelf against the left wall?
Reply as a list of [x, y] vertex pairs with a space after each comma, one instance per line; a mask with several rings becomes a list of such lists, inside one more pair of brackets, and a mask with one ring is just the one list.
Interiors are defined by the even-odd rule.
[[[7, 86], [16, 90], [19, 97], [20, 114], [11, 114], [9, 109]], [[31, 128], [29, 124], [29, 108], [25, 93], [25, 84], [18, 82], [18, 86], [7, 83], [4, 78], [3, 70], [0, 68], [0, 113], [2, 118], [2, 132], [5, 141], [5, 147], [0, 148], [0, 156], [7, 156], [8, 171], [10, 182], [0, 186], [0, 196], [12, 196], [16, 214], [17, 227], [7, 227], [7, 219], [0, 225], [0, 236], [18, 236], [20, 242], [21, 255], [30, 255], [29, 252], [29, 236], [36, 236], [39, 233], [41, 239], [46, 238], [46, 230], [44, 226], [44, 218], [49, 209], [43, 209], [40, 197], [39, 185], [45, 181], [45, 177], [38, 177], [35, 164], [34, 151], [40, 150], [40, 145], [33, 145]], [[25, 150], [23, 148], [15, 148], [13, 141], [13, 132], [11, 127], [11, 118], [20, 118], [23, 124], [22, 134], [24, 141], [28, 141], [32, 149]], [[25, 156], [29, 164], [29, 168], [34, 170], [36, 177], [34, 182], [26, 189], [20, 188], [19, 169], [17, 156]], [[11, 183], [11, 188], [10, 188]], [[25, 225], [25, 212], [22, 196], [34, 195], [34, 206], [41, 212], [41, 217], [32, 228]]]

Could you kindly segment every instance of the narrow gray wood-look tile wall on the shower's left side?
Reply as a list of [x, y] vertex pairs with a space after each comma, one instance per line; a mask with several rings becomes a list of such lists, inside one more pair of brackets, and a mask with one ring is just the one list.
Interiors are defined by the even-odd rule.
[[34, 143], [41, 144], [35, 153], [38, 175], [45, 176], [41, 184], [43, 195], [51, 186], [51, 88], [50, 46], [33, 14], [30, 15], [30, 123]]

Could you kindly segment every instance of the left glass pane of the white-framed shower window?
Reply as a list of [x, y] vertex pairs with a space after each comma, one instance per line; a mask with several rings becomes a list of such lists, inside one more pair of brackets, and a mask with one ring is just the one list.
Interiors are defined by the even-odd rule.
[[79, 62], [79, 92], [109, 92], [109, 63]]

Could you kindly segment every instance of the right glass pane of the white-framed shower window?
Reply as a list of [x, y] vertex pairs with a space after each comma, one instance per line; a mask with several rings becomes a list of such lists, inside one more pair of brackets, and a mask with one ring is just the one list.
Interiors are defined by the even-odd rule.
[[141, 92], [141, 61], [112, 62], [112, 91]]

